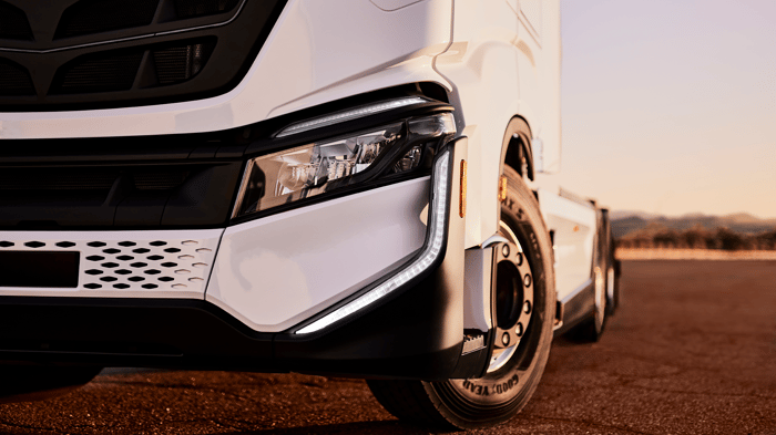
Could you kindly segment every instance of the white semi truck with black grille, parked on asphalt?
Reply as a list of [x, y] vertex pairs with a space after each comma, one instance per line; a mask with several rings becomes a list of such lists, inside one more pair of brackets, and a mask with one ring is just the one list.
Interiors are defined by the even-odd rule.
[[508, 420], [616, 303], [560, 60], [559, 0], [0, 0], [0, 395], [296, 371]]

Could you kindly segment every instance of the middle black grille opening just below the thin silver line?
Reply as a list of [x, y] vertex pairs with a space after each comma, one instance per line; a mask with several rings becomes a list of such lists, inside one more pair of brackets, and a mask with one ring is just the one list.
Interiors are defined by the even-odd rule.
[[63, 68], [53, 93], [81, 94], [132, 89], [143, 51], [79, 58]]

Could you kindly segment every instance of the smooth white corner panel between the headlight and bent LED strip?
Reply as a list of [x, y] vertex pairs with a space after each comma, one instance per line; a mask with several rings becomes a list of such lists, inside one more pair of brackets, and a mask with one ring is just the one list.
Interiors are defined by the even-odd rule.
[[229, 227], [207, 300], [285, 330], [400, 266], [426, 238], [429, 178]]

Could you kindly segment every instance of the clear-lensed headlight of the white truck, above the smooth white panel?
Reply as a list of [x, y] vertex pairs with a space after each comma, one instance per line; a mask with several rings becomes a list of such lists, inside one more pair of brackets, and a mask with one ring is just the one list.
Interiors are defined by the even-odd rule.
[[429, 165], [450, 113], [410, 118], [248, 160], [233, 218]]

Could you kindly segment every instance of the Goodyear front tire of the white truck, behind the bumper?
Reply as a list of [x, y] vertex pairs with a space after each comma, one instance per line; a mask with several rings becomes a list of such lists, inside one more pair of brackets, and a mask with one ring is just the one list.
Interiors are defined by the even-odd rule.
[[[550, 354], [555, 314], [552, 245], [533, 193], [511, 167], [504, 167], [504, 176], [508, 188], [501, 206], [501, 232], [514, 237], [522, 248], [521, 252], [515, 250], [507, 257], [520, 259], [520, 266], [515, 268], [525, 280], [504, 281], [507, 273], [502, 273], [501, 281], [497, 276], [497, 288], [501, 286], [508, 292], [509, 286], [512, 286], [512, 294], [520, 294], [511, 299], [511, 307], [519, 307], [522, 311], [518, 310], [518, 317], [510, 319], [524, 321], [527, 327], [522, 329], [517, 320], [514, 325], [510, 325], [509, 320], [500, 318], [510, 310], [504, 309], [504, 298], [500, 297], [501, 290], [497, 290], [497, 298], [492, 299], [497, 303], [494, 312], [499, 328], [508, 328], [512, 333], [521, 332], [511, 348], [502, 346], [499, 350], [493, 346], [491, 365], [483, 377], [445, 382], [367, 381], [377, 401], [400, 420], [443, 429], [491, 426], [520, 412], [539, 385]], [[508, 234], [510, 231], [511, 235]], [[494, 272], [502, 271], [499, 265], [501, 268], [509, 267], [504, 261], [494, 261]], [[523, 271], [530, 277], [525, 278]], [[525, 308], [529, 293], [532, 307], [529, 304]], [[508, 351], [510, 353], [504, 356]]]

